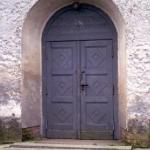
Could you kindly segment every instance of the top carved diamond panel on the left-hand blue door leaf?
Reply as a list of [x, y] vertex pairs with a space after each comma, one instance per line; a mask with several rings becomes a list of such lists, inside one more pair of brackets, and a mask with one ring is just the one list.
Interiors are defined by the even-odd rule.
[[72, 49], [53, 49], [53, 70], [71, 69], [73, 65]]

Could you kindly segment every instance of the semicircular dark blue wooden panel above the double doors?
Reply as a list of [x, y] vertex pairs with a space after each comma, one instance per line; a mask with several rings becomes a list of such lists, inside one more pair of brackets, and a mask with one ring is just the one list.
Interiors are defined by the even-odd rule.
[[45, 40], [112, 39], [114, 33], [114, 25], [104, 12], [81, 4], [78, 10], [70, 6], [58, 11], [47, 23]]

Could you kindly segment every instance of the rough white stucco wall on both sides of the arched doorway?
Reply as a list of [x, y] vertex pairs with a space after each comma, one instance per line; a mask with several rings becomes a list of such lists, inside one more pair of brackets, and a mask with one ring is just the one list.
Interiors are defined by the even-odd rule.
[[[0, 117], [21, 115], [21, 32], [27, 12], [38, 0], [0, 2]], [[127, 116], [149, 128], [150, 1], [113, 0], [126, 26]]]

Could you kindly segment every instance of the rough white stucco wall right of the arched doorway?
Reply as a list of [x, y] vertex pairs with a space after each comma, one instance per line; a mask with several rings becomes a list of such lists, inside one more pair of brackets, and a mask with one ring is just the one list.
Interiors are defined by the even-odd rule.
[[115, 2], [126, 22], [128, 125], [150, 130], [150, 1]]

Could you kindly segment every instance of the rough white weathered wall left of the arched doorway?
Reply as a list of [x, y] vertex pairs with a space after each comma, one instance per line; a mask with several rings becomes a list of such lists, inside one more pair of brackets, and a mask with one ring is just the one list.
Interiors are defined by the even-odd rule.
[[21, 32], [36, 0], [0, 1], [0, 117], [21, 114]]

